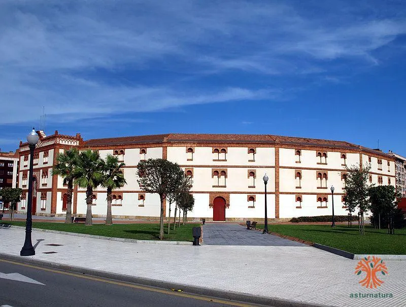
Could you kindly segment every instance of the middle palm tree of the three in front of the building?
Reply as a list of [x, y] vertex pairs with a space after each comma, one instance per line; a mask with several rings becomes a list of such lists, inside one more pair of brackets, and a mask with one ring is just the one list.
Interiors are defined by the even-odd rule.
[[75, 183], [81, 188], [86, 188], [86, 222], [85, 225], [92, 225], [92, 202], [93, 189], [95, 189], [103, 178], [101, 170], [100, 155], [97, 151], [90, 149], [81, 151], [78, 165], [74, 170]]

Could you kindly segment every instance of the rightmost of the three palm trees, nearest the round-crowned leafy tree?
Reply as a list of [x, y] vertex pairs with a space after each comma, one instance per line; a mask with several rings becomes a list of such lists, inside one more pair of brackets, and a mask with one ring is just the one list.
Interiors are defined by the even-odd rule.
[[107, 188], [107, 216], [106, 225], [112, 225], [113, 220], [111, 218], [111, 201], [112, 191], [123, 187], [127, 182], [124, 179], [124, 174], [121, 170], [125, 166], [124, 163], [119, 163], [118, 158], [112, 155], [107, 155], [105, 160], [101, 160], [103, 169], [103, 178], [101, 180], [101, 186]]

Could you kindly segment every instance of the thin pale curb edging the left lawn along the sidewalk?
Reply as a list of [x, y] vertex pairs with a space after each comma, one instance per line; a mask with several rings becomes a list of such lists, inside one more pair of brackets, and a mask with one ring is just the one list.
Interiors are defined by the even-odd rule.
[[[15, 225], [9, 225], [9, 224], [7, 224], [7, 226], [2, 226], [1, 223], [0, 223], [0, 227], [25, 229], [25, 227], [23, 227], [23, 226], [15, 226]], [[93, 238], [93, 239], [110, 240], [110, 241], [118, 241], [118, 242], [126, 242], [126, 243], [173, 244], [173, 245], [192, 245], [193, 244], [193, 242], [188, 242], [188, 241], [136, 240], [136, 239], [127, 239], [127, 238], [123, 238], [123, 237], [110, 237], [110, 236], [103, 236], [103, 235], [85, 234], [85, 233], [77, 233], [77, 232], [66, 232], [66, 231], [59, 231], [59, 230], [52, 230], [52, 229], [42, 229], [42, 228], [32, 228], [32, 231], [51, 232], [51, 233], [66, 234], [66, 235], [73, 235], [73, 236], [82, 236], [82, 237], [90, 237], [90, 238]]]

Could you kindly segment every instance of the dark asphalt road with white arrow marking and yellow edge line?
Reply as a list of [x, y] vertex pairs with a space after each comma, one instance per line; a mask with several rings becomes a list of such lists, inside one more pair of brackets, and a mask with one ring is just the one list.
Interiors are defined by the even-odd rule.
[[[21, 281], [29, 279], [31, 283]], [[35, 281], [44, 285], [36, 284]], [[173, 292], [169, 289], [152, 288], [0, 259], [0, 306], [4, 305], [249, 306], [243, 302]]]

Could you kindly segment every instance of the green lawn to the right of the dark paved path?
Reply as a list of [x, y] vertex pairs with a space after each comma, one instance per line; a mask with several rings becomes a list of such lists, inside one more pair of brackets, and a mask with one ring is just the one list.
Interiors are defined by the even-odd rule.
[[[257, 225], [262, 228], [263, 225]], [[268, 230], [302, 240], [334, 247], [353, 254], [406, 255], [406, 229], [395, 229], [394, 235], [386, 229], [365, 226], [365, 235], [358, 234], [358, 225], [278, 225], [268, 224]]]

